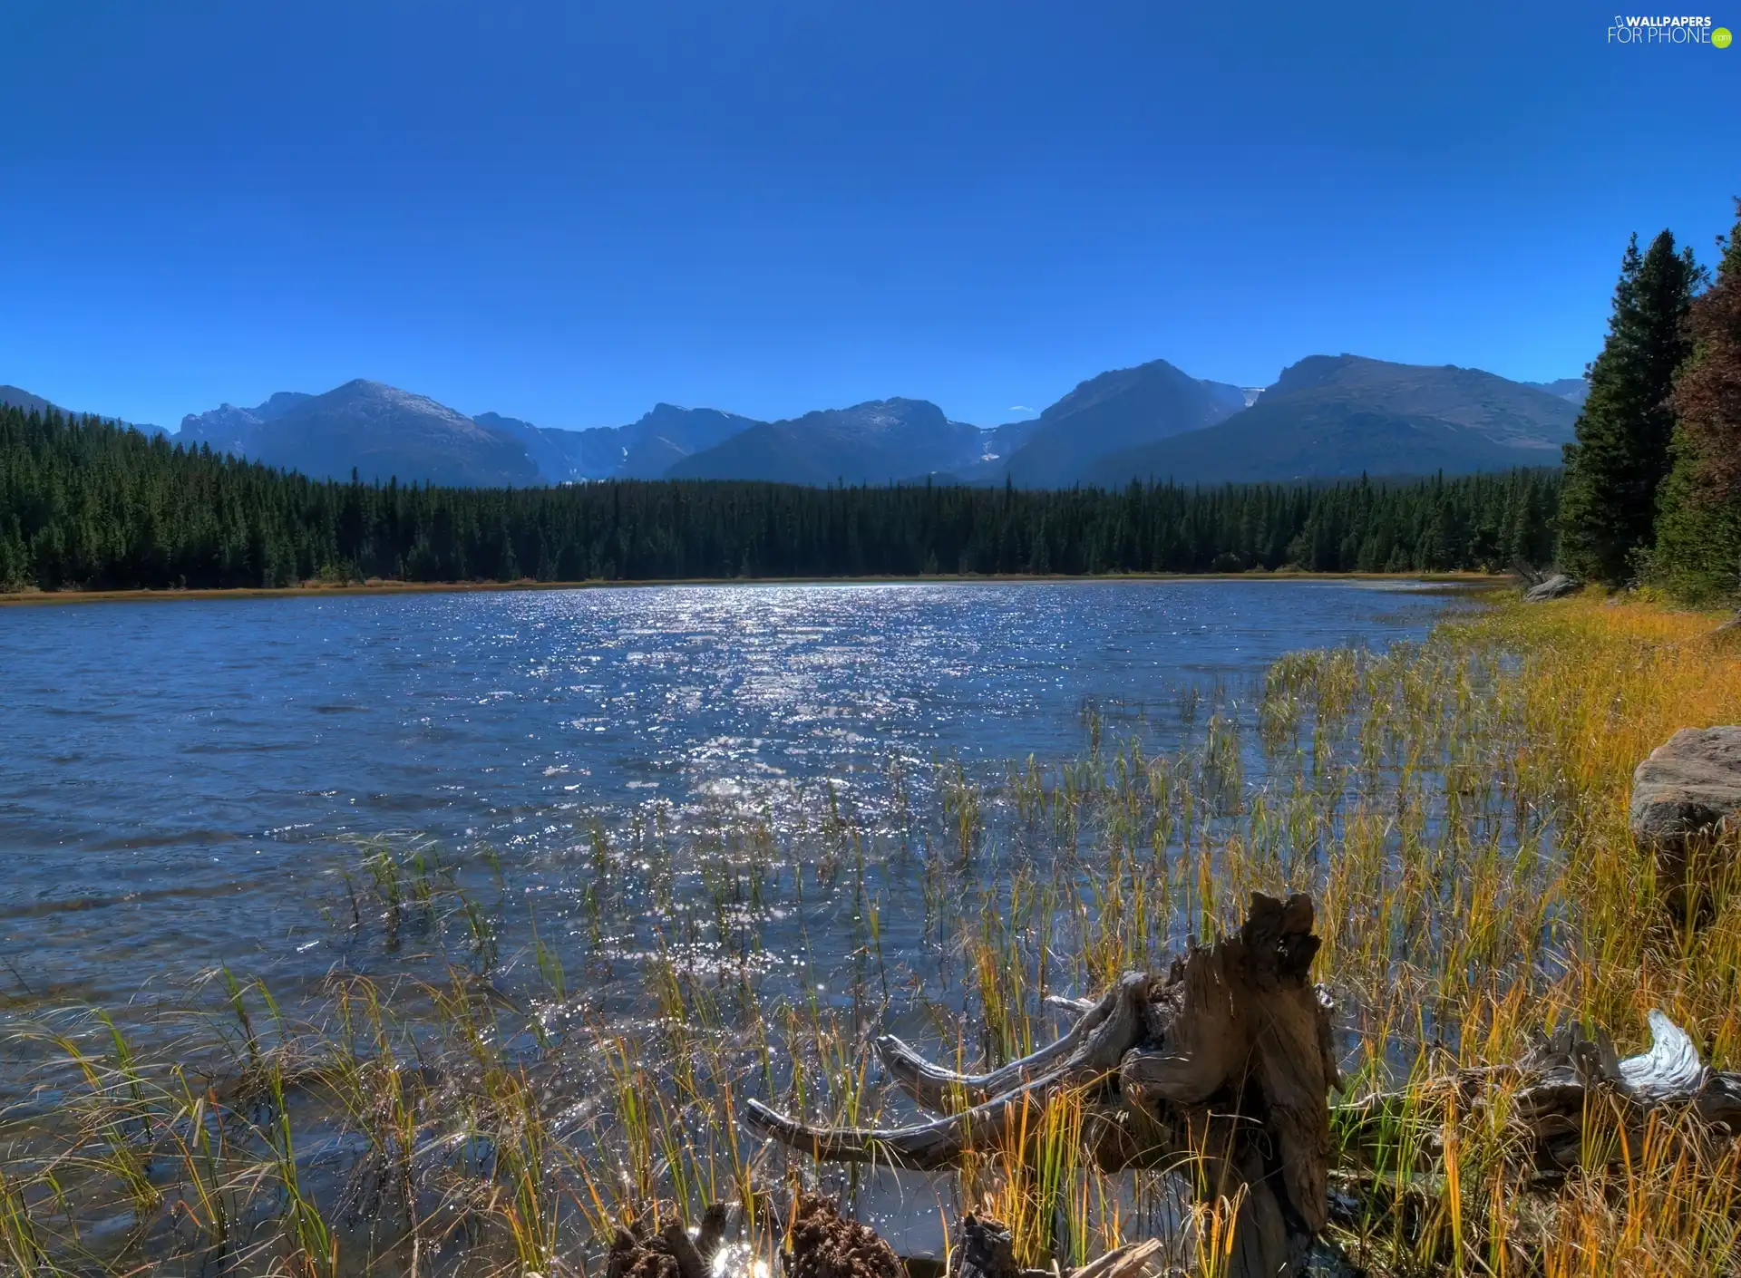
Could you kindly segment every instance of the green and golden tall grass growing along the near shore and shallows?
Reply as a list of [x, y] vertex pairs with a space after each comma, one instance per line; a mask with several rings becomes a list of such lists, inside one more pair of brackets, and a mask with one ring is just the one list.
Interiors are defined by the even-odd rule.
[[597, 1273], [625, 1215], [721, 1200], [745, 1205], [750, 1271], [775, 1264], [797, 1180], [921, 1234], [989, 1210], [1031, 1264], [1146, 1234], [1184, 1261], [1224, 1214], [1088, 1167], [1069, 1097], [1034, 1107], [1017, 1154], [931, 1177], [817, 1168], [736, 1114], [754, 1095], [898, 1121], [874, 1034], [998, 1064], [1059, 1031], [1048, 994], [1163, 963], [1254, 890], [1318, 902], [1346, 1095], [1410, 1093], [1377, 1147], [1344, 1151], [1360, 1262], [1729, 1271], [1731, 1144], [1659, 1127], [1617, 1170], [1527, 1184], [1502, 1102], [1440, 1104], [1450, 1071], [1511, 1062], [1543, 1026], [1633, 1050], [1652, 1006], [1741, 1062], [1741, 891], [1718, 874], [1706, 926], [1666, 925], [1675, 885], [1626, 831], [1644, 754], [1741, 721], [1741, 651], [1710, 618], [1494, 606], [1151, 714], [1186, 743], [1146, 752], [1130, 714], [1086, 707], [1078, 761], [891, 761], [874, 806], [823, 785], [780, 813], [601, 818], [552, 865], [359, 846], [310, 987], [212, 973], [150, 1019], [16, 1010], [0, 1271]]

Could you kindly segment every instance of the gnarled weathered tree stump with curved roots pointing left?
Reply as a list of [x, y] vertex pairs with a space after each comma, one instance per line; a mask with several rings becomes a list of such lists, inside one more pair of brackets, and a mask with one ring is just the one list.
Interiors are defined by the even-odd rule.
[[1104, 1170], [1173, 1167], [1200, 1200], [1238, 1203], [1231, 1278], [1299, 1273], [1328, 1222], [1330, 1003], [1309, 980], [1318, 938], [1304, 895], [1252, 897], [1245, 925], [1193, 944], [1166, 977], [1126, 973], [1057, 1043], [984, 1074], [877, 1039], [890, 1076], [944, 1116], [911, 1127], [818, 1127], [750, 1100], [750, 1123], [829, 1161], [938, 1168], [1012, 1149], [1024, 1109], [1065, 1092], [1086, 1106]]

